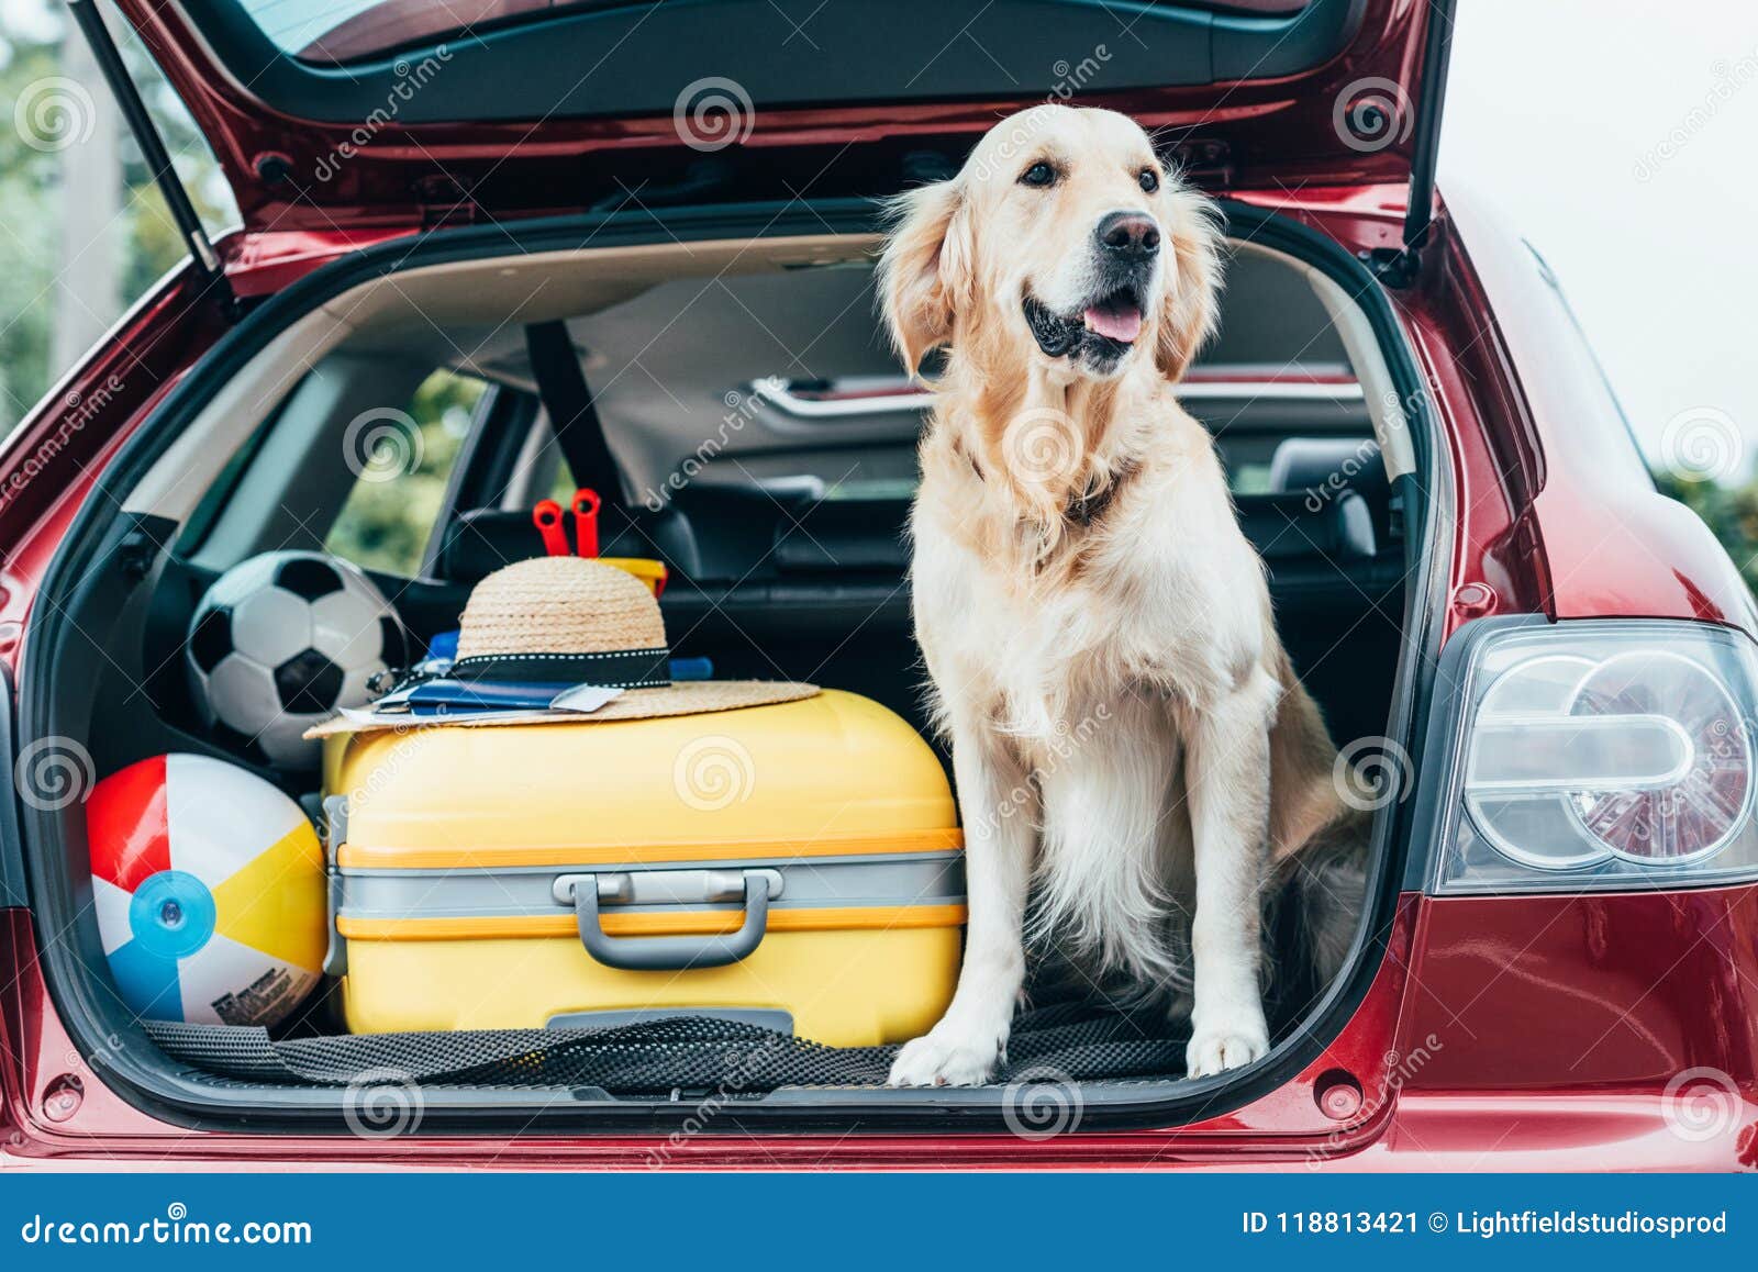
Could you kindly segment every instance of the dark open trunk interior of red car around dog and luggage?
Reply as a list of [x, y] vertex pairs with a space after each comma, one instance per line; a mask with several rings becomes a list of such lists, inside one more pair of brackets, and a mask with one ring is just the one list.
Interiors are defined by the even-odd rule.
[[[1275, 214], [1227, 213], [1224, 332], [1183, 401], [1218, 439], [1283, 641], [1334, 740], [1355, 757], [1396, 752], [1445, 541], [1422, 494], [1443, 487], [1427, 399], [1357, 260]], [[700, 209], [441, 232], [304, 278], [239, 323], [105, 469], [33, 608], [23, 741], [70, 740], [98, 777], [155, 754], [214, 755], [318, 815], [313, 775], [202, 727], [181, 662], [195, 604], [253, 553], [334, 550], [350, 425], [445, 371], [483, 395], [418, 560], [376, 578], [424, 641], [455, 627], [489, 569], [531, 555], [531, 501], [566, 480], [531, 365], [529, 330], [554, 323], [621, 469], [626, 511], [607, 515], [607, 534], [672, 569], [673, 655], [708, 659], [717, 676], [854, 690], [925, 731], [900, 539], [923, 401], [875, 327], [874, 242], [867, 204]], [[1000, 1128], [1007, 1082], [1042, 1072], [1079, 1086], [1088, 1126], [1164, 1126], [1273, 1091], [1348, 1019], [1399, 887], [1394, 812], [1377, 817], [1348, 968], [1333, 984], [1278, 979], [1264, 1061], [1185, 1080], [1174, 1026], [1046, 979], [993, 1086], [926, 1091], [881, 1086], [890, 1049], [705, 1019], [397, 1040], [341, 1035], [320, 993], [272, 1037], [144, 1026], [109, 979], [81, 808], [26, 810], [25, 835], [40, 929], [70, 933], [44, 949], [67, 1028], [109, 1080], [176, 1121], [339, 1130], [359, 1075], [389, 1066], [420, 1088], [427, 1130], [656, 1128], [687, 1114], [679, 1093], [716, 1089], [752, 1128], [949, 1114]]]

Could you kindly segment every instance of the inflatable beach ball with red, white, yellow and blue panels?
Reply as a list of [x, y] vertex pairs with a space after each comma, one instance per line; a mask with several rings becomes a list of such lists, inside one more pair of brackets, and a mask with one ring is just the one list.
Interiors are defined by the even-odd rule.
[[276, 1024], [318, 982], [323, 850], [299, 805], [206, 755], [155, 755], [86, 801], [91, 891], [132, 1012]]

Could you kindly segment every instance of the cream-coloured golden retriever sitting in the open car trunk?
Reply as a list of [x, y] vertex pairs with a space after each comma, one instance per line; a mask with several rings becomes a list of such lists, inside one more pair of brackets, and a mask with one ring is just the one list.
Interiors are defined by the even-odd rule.
[[911, 372], [944, 350], [911, 576], [970, 924], [946, 1015], [890, 1080], [992, 1077], [1028, 894], [1034, 933], [1188, 1012], [1190, 1077], [1248, 1065], [1271, 871], [1348, 810], [1173, 394], [1215, 325], [1217, 220], [1132, 119], [1065, 105], [1004, 119], [897, 214], [886, 323]]

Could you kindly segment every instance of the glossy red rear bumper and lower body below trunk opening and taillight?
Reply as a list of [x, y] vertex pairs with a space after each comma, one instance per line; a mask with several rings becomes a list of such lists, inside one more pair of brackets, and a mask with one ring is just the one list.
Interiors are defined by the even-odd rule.
[[[1602, 898], [1605, 900], [1605, 898]], [[1044, 1140], [1013, 1135], [765, 1135], [761, 1142], [716, 1133], [710, 1123], [696, 1135], [524, 1135], [524, 1137], [424, 1137], [397, 1140], [315, 1135], [192, 1135], [181, 1126], [155, 1121], [102, 1088], [72, 1040], [58, 1028], [47, 991], [37, 975], [32, 954], [33, 933], [21, 910], [4, 912], [0, 950], [11, 943], [25, 958], [23, 975], [4, 994], [5, 1023], [0, 1042], [25, 1061], [25, 1086], [9, 1093], [7, 1116], [14, 1130], [0, 1147], [0, 1161], [16, 1168], [54, 1168], [98, 1160], [105, 1168], [156, 1168], [172, 1161], [185, 1168], [241, 1167], [267, 1168], [308, 1165], [315, 1168], [373, 1168], [396, 1163], [403, 1168], [494, 1167], [503, 1170], [554, 1168], [1276, 1168], [1276, 1170], [1596, 1170], [1616, 1160], [1631, 1170], [1758, 1168], [1754, 1124], [1758, 1098], [1749, 1100], [1749, 1116], [1712, 1137], [1681, 1137], [1661, 1098], [1665, 1075], [1654, 1070], [1663, 1054], [1653, 1049], [1653, 1037], [1640, 1026], [1609, 1040], [1607, 1051], [1628, 1065], [1624, 1080], [1607, 1082], [1603, 1072], [1545, 1082], [1521, 1082], [1519, 1073], [1498, 1070], [1496, 1082], [1475, 1080], [1475, 1059], [1486, 1049], [1529, 1045], [1544, 1037], [1542, 1015], [1524, 1014], [1519, 1031], [1498, 1021], [1487, 1028], [1501, 998], [1531, 984], [1533, 972], [1545, 966], [1568, 972], [1579, 959], [1603, 954], [1596, 940], [1607, 931], [1621, 936], [1663, 936], [1663, 952], [1679, 949], [1681, 940], [1700, 936], [1702, 924], [1726, 928], [1733, 945], [1744, 942], [1742, 968], [1758, 959], [1753, 945], [1753, 915], [1758, 914], [1754, 889], [1716, 889], [1698, 894], [1695, 922], [1668, 921], [1677, 898], [1626, 896], [1614, 907], [1621, 914], [1605, 928], [1582, 910], [1580, 898], [1526, 898], [1519, 905], [1501, 900], [1449, 900], [1436, 903], [1406, 896], [1391, 940], [1389, 958], [1343, 1035], [1294, 1082], [1246, 1109], [1166, 1131], [1069, 1131]], [[1475, 915], [1466, 907], [1477, 907]], [[1440, 919], [1436, 907], [1450, 914]], [[1493, 912], [1508, 910], [1508, 922]], [[1484, 919], [1491, 922], [1489, 940], [1477, 933]], [[1586, 919], [1586, 922], [1582, 922]], [[1463, 922], [1461, 922], [1463, 921]], [[1723, 922], [1726, 921], [1726, 922]], [[1536, 929], [1559, 929], [1533, 949], [1522, 949], [1522, 936]], [[1415, 979], [1403, 965], [1419, 933], [1442, 942], [1442, 963], [1429, 968], [1419, 961]], [[1670, 936], [1668, 936], [1670, 933]], [[1728, 984], [1726, 965], [1718, 954], [1730, 954], [1723, 943], [1695, 958], [1681, 972], [1681, 982], [1693, 973], [1702, 980]], [[1496, 958], [1503, 961], [1498, 963]], [[1631, 958], [1640, 958], [1631, 947]], [[1554, 961], [1559, 959], [1559, 961]], [[1623, 977], [1628, 968], [1614, 968]], [[1749, 972], [1742, 972], [1747, 975]], [[1420, 977], [1438, 975], [1424, 984]], [[1466, 977], [1468, 984], [1459, 986]], [[1496, 986], [1508, 991], [1496, 998]], [[1459, 993], [1478, 986], [1489, 989], [1482, 1008], [1449, 1019], [1435, 1003], [1436, 993]], [[1570, 1003], [1570, 984], [1552, 986], [1551, 1007], [1579, 1014]], [[1714, 1003], [1705, 1003], [1705, 994]], [[1749, 1007], [1751, 989], [1742, 1001], [1732, 1001], [1712, 987], [1691, 984], [1674, 1003], [1654, 1008], [1677, 1026], [1679, 1052], [1665, 1052], [1665, 1063], [1693, 1059], [1707, 1065], [1728, 1061], [1751, 1089], [1753, 1038], [1747, 1028], [1739, 1037], [1725, 1037], [1723, 1012]], [[1609, 1008], [1600, 1001], [1596, 1007]], [[1695, 1010], [1693, 1010], [1695, 1008]], [[18, 1037], [5, 1037], [16, 1023], [26, 1023]], [[28, 1028], [35, 1021], [39, 1028]], [[1536, 1023], [1535, 1023], [1536, 1021]], [[1468, 1023], [1482, 1031], [1473, 1037]], [[1396, 1037], [1394, 1037], [1396, 1030]], [[1449, 1042], [1449, 1038], [1452, 1042]], [[1628, 1040], [1626, 1040], [1628, 1038]], [[1551, 1049], [1556, 1072], [1573, 1059], [1568, 1045]], [[1489, 1066], [1494, 1068], [1491, 1061]], [[1315, 1086], [1336, 1073], [1377, 1075], [1364, 1093], [1361, 1114], [1348, 1123], [1317, 1117]], [[9, 1079], [12, 1073], [9, 1073]], [[79, 1079], [83, 1100], [63, 1123], [42, 1116], [42, 1098], [51, 1088]], [[19, 1100], [18, 1091], [30, 1091]], [[731, 1121], [735, 1114], [723, 1114]], [[1304, 1135], [1287, 1133], [1292, 1121], [1304, 1123]]]

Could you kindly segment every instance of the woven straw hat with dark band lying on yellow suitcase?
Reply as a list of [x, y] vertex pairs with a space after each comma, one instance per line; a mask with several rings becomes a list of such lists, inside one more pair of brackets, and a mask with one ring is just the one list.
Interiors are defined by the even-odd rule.
[[[672, 683], [659, 601], [645, 583], [585, 557], [534, 557], [498, 569], [469, 594], [459, 620], [450, 675], [482, 682], [607, 685], [622, 692], [578, 717], [533, 715], [480, 724], [647, 720], [661, 715], [730, 712], [812, 697], [816, 685], [789, 680], [691, 680]], [[432, 720], [432, 717], [427, 717]], [[469, 727], [469, 715], [445, 717]], [[325, 736], [359, 729], [338, 717], [308, 731]]]

